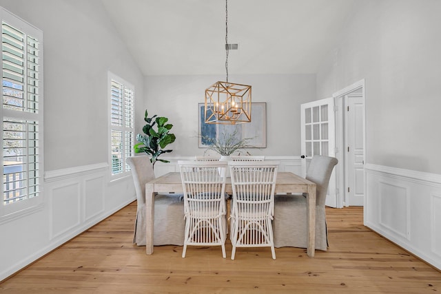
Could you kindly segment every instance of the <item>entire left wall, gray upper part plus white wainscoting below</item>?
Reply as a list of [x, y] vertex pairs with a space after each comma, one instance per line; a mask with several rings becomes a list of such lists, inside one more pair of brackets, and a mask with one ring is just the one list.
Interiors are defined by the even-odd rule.
[[[99, 1], [0, 6], [43, 30], [45, 176], [52, 171], [37, 209], [0, 222], [1, 281], [136, 199], [130, 177], [107, 180], [107, 71], [135, 86], [139, 108], [143, 75]], [[88, 169], [95, 164], [101, 168]]]

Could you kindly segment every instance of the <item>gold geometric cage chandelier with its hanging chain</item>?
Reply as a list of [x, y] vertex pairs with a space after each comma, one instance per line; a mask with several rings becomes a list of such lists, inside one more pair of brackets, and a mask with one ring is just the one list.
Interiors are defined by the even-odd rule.
[[225, 0], [225, 51], [227, 80], [218, 81], [205, 90], [205, 123], [250, 123], [251, 86], [228, 81], [228, 0]]

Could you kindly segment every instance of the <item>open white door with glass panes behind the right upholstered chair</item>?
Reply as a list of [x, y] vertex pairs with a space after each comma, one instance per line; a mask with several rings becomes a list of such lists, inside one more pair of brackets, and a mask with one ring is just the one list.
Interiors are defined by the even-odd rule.
[[[326, 98], [300, 107], [302, 176], [314, 155], [335, 156], [334, 98]], [[329, 180], [326, 205], [336, 207], [336, 176]]]

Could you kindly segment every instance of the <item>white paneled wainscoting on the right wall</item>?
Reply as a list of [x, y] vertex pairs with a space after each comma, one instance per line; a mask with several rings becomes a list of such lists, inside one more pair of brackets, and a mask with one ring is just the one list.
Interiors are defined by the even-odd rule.
[[365, 225], [441, 269], [441, 175], [366, 165]]

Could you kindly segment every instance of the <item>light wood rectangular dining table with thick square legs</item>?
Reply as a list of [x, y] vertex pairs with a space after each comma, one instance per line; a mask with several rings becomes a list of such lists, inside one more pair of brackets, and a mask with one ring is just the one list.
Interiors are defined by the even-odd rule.
[[[229, 195], [233, 193], [231, 178], [227, 178], [225, 192]], [[145, 184], [145, 253], [147, 255], [153, 253], [154, 196], [157, 193], [183, 193], [181, 173], [170, 172]], [[280, 171], [277, 174], [274, 193], [287, 193], [288, 195], [305, 193], [307, 197], [307, 220], [305, 221], [308, 227], [307, 255], [313, 258], [316, 248], [316, 184], [294, 173]]]

